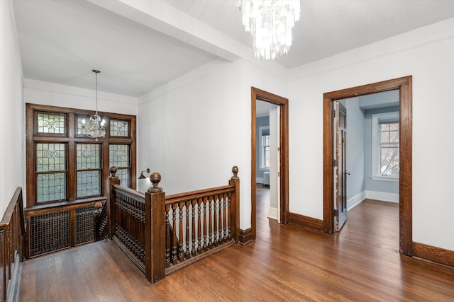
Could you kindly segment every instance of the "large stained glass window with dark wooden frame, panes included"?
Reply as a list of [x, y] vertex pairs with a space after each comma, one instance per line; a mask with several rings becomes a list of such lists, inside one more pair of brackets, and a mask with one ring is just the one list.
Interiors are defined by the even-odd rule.
[[82, 127], [92, 114], [90, 109], [26, 104], [27, 207], [106, 196], [110, 165], [118, 166], [121, 185], [135, 187], [135, 116], [99, 112], [107, 135], [95, 141]]

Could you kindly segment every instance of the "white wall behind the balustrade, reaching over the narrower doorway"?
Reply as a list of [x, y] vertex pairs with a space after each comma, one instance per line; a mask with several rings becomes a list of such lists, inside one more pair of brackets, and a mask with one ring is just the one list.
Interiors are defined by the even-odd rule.
[[250, 228], [250, 87], [286, 96], [282, 76], [214, 60], [139, 99], [138, 162], [166, 194], [227, 185], [238, 165], [240, 228]]

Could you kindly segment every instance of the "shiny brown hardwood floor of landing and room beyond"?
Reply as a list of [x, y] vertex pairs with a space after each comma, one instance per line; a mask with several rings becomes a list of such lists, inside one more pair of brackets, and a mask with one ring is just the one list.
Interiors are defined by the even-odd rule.
[[[260, 191], [260, 192], [259, 192]], [[156, 284], [110, 241], [23, 263], [18, 301], [454, 301], [454, 269], [399, 255], [397, 204], [365, 200], [328, 236], [267, 219]]]

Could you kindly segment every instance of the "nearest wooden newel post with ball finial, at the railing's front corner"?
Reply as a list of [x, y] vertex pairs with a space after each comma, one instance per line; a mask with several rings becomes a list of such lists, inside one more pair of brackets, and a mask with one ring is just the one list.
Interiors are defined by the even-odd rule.
[[165, 278], [165, 192], [160, 173], [150, 175], [152, 187], [145, 192], [145, 278], [155, 283]]

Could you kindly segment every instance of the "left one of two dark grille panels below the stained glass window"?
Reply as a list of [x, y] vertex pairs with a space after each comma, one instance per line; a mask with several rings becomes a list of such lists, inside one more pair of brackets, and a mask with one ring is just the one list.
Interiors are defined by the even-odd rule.
[[30, 217], [30, 256], [70, 247], [70, 211]]

